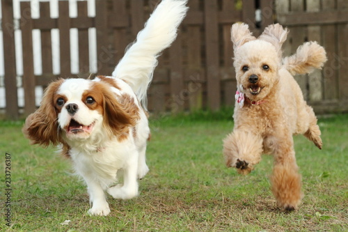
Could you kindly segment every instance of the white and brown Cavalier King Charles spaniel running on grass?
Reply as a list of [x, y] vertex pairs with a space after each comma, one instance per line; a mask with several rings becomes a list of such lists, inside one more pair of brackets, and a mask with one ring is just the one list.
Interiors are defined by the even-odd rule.
[[161, 1], [112, 77], [58, 79], [46, 88], [40, 108], [26, 118], [26, 137], [33, 144], [60, 146], [86, 181], [90, 215], [109, 215], [105, 191], [116, 199], [137, 196], [137, 179], [149, 171], [146, 91], [157, 56], [177, 36], [186, 3]]

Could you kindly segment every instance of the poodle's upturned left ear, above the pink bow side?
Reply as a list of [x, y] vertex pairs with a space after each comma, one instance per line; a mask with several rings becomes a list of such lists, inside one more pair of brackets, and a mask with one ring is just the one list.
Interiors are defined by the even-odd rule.
[[244, 43], [255, 40], [255, 36], [249, 31], [248, 24], [235, 23], [231, 28], [231, 40], [233, 42], [233, 48], [236, 50], [238, 47], [244, 45]]

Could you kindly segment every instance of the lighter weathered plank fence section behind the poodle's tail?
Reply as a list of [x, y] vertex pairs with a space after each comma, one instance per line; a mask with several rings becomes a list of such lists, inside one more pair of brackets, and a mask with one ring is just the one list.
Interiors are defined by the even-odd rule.
[[290, 29], [285, 54], [310, 40], [326, 49], [322, 71], [296, 77], [306, 100], [318, 113], [347, 112], [348, 1], [276, 0], [276, 20]]

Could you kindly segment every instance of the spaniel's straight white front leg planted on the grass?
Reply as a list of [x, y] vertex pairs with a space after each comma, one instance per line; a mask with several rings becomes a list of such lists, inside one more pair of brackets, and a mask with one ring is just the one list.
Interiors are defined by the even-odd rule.
[[88, 187], [92, 208], [88, 210], [90, 215], [106, 216], [110, 213], [109, 203], [106, 202], [105, 193], [100, 183], [92, 177], [83, 176]]

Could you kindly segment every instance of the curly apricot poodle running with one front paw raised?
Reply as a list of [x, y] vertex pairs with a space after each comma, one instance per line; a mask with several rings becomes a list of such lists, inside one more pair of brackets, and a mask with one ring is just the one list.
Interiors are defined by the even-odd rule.
[[322, 68], [326, 52], [317, 42], [306, 42], [283, 59], [287, 33], [274, 24], [255, 38], [248, 25], [233, 24], [237, 103], [235, 127], [223, 141], [223, 153], [227, 166], [244, 174], [260, 162], [262, 153], [274, 155], [271, 190], [278, 206], [294, 210], [302, 192], [292, 135], [304, 134], [320, 149], [322, 139], [313, 109], [292, 75]]

